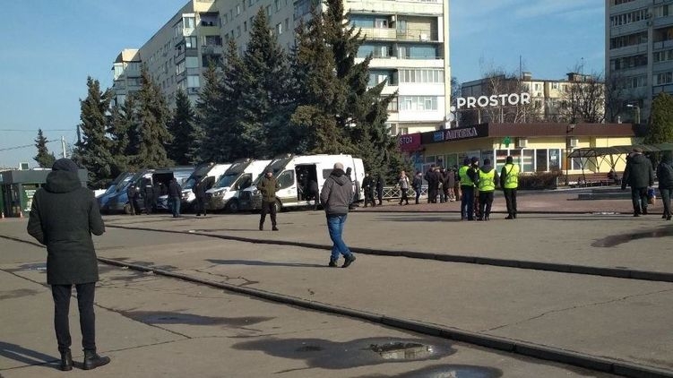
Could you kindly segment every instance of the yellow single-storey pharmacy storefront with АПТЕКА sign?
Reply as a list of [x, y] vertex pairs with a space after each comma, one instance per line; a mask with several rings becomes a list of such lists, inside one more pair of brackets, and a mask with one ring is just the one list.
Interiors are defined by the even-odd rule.
[[[507, 156], [522, 173], [564, 171], [608, 172], [608, 162], [567, 159], [573, 150], [634, 144], [636, 133], [627, 124], [480, 124], [428, 133], [401, 135], [399, 145], [407, 152], [414, 168], [425, 172], [435, 164], [460, 167], [464, 158], [491, 159], [500, 169]], [[623, 171], [624, 161], [616, 170]]]

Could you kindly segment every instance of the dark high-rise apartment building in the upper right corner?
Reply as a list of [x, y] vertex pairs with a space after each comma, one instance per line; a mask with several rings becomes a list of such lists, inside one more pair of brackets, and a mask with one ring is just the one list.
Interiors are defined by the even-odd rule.
[[608, 117], [644, 123], [652, 98], [673, 93], [673, 2], [606, 0], [605, 10], [606, 82], [619, 94]]

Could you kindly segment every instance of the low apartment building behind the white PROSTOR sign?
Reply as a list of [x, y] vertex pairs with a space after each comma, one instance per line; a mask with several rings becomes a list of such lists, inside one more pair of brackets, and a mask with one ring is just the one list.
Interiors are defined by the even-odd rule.
[[[496, 107], [478, 107], [457, 109], [460, 120], [467, 124], [481, 123], [534, 123], [534, 122], [563, 122], [568, 117], [564, 111], [563, 103], [568, 101], [569, 92], [576, 85], [588, 84], [593, 78], [591, 75], [582, 73], [566, 73], [565, 79], [549, 80], [533, 78], [532, 73], [522, 73], [519, 77], [505, 77], [497, 75], [471, 82], [463, 82], [461, 95], [463, 98], [479, 96], [530, 94], [529, 104], [498, 105]], [[596, 96], [604, 96], [604, 86], [600, 84], [600, 93]], [[602, 115], [602, 108], [600, 115]]]

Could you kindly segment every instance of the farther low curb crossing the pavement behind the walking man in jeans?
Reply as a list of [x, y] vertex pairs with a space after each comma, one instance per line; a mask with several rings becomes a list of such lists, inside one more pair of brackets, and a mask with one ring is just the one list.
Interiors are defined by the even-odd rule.
[[[123, 228], [130, 230], [167, 232], [172, 234], [208, 236], [223, 240], [233, 240], [237, 242], [262, 244], [262, 245], [290, 245], [303, 248], [326, 249], [326, 250], [332, 249], [331, 245], [292, 242], [288, 240], [255, 239], [243, 236], [213, 235], [213, 234], [206, 234], [203, 232], [163, 230], [154, 228], [132, 228], [117, 225], [107, 225], [107, 226], [109, 228]], [[532, 271], [556, 271], [560, 273], [611, 277], [616, 279], [639, 279], [646, 281], [673, 282], [673, 272], [636, 271], [636, 270], [618, 269], [618, 268], [600, 268], [586, 265], [571, 265], [556, 262], [531, 262], [524, 260], [507, 260], [490, 257], [465, 256], [460, 254], [438, 254], [438, 253], [425, 253], [416, 251], [387, 251], [382, 249], [364, 248], [364, 247], [350, 247], [350, 250], [355, 253], [371, 254], [376, 256], [407, 257], [410, 259], [436, 260], [439, 262], [462, 262], [462, 263], [489, 265], [503, 268], [527, 269]]]

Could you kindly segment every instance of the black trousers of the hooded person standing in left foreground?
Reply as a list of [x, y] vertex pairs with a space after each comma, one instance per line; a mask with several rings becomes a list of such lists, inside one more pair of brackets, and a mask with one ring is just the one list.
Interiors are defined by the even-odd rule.
[[[82, 331], [82, 348], [96, 350], [96, 315], [93, 313], [93, 298], [96, 283], [76, 284], [77, 307], [80, 310], [80, 330]], [[54, 297], [54, 329], [58, 350], [63, 352], [70, 348], [70, 295], [73, 285], [52, 285], [51, 295]]]

